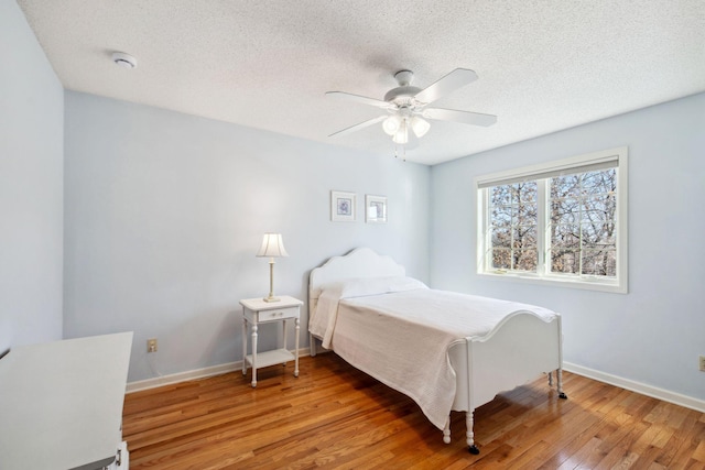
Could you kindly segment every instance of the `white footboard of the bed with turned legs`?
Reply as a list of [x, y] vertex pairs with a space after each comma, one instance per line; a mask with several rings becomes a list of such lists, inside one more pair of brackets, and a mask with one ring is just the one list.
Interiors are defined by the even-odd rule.
[[[531, 313], [505, 318], [489, 335], [466, 338], [451, 348], [451, 363], [457, 374], [453, 409], [466, 412], [467, 444], [478, 453], [474, 438], [475, 409], [498, 393], [534, 380], [541, 373], [556, 371], [558, 396], [565, 398], [562, 384], [563, 348], [561, 316], [550, 323]], [[550, 383], [551, 375], [549, 375]], [[451, 441], [451, 419], [443, 440]]]

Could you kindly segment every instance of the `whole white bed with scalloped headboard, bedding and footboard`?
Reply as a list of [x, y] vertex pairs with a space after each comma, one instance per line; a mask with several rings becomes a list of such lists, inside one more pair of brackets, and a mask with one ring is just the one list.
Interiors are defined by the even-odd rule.
[[368, 248], [312, 270], [311, 356], [317, 342], [410, 396], [451, 442], [451, 412], [474, 412], [499, 392], [547, 374], [561, 398], [561, 315], [550, 309], [429, 288]]

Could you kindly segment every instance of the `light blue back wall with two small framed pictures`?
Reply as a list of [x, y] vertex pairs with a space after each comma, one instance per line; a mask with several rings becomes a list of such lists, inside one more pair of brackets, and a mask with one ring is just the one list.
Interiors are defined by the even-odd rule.
[[[130, 381], [242, 359], [265, 231], [290, 254], [279, 294], [306, 299], [310, 270], [359, 245], [427, 277], [427, 166], [74, 91], [65, 139], [65, 336], [134, 330]], [[357, 222], [329, 220], [332, 189], [357, 194]], [[365, 223], [366, 194], [389, 198], [388, 223]]]

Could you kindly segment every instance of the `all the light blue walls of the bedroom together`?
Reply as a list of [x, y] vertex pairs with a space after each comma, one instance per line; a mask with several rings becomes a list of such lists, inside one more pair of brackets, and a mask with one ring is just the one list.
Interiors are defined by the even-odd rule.
[[[0, 56], [0, 351], [59, 339], [64, 323], [67, 338], [134, 330], [131, 381], [240, 360], [238, 300], [267, 293], [253, 254], [281, 231], [276, 293], [305, 298], [313, 266], [370, 245], [434, 287], [561, 311], [571, 363], [705, 398], [705, 95], [427, 168], [72, 91], [64, 110], [9, 0]], [[619, 145], [629, 294], [475, 274], [475, 176]], [[365, 194], [388, 196], [389, 223], [330, 222], [332, 189], [357, 193], [360, 219]]]

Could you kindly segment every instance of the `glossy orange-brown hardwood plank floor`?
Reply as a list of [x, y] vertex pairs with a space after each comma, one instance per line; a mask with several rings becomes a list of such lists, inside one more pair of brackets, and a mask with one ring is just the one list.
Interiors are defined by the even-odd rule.
[[127, 395], [139, 469], [705, 469], [705, 414], [564, 373], [476, 411], [479, 456], [453, 413], [443, 444], [413, 401], [333, 353]]

